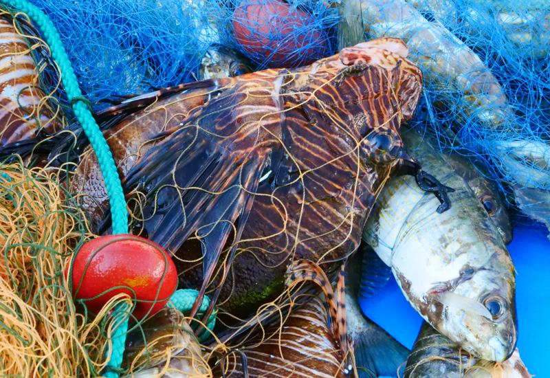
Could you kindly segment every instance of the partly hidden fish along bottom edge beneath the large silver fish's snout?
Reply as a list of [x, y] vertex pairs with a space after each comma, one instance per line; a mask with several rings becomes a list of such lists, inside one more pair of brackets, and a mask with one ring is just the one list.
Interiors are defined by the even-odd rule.
[[404, 378], [531, 378], [518, 348], [503, 363], [476, 359], [423, 322]]

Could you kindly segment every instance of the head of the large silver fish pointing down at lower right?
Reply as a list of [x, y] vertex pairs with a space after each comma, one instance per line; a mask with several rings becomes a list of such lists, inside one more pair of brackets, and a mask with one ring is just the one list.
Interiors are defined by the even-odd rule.
[[[476, 357], [503, 362], [517, 342], [514, 271], [502, 275], [511, 267], [509, 256], [493, 254], [483, 266], [465, 267], [452, 291], [433, 293], [432, 298], [443, 304], [441, 322], [437, 328], [453, 335], [453, 341]], [[437, 289], [436, 289], [437, 290]]]

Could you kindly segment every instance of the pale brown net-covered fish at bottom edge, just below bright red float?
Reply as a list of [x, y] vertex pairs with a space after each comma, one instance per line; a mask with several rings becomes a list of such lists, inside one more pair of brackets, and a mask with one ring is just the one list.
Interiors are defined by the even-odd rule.
[[169, 307], [129, 332], [124, 362], [131, 372], [125, 378], [212, 377], [184, 314]]

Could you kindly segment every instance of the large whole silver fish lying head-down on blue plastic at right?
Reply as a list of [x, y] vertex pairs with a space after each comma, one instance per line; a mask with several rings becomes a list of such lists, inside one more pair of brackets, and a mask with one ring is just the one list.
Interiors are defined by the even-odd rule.
[[418, 133], [412, 155], [454, 188], [452, 208], [397, 177], [380, 193], [363, 238], [390, 266], [401, 291], [435, 329], [472, 355], [502, 362], [517, 341], [514, 265], [494, 222], [464, 179]]

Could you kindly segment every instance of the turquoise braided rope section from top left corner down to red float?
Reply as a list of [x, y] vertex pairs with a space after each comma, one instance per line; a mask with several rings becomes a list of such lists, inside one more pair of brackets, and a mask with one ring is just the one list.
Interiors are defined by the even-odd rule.
[[[78, 81], [74, 74], [73, 67], [65, 52], [65, 47], [61, 43], [61, 38], [54, 26], [54, 23], [35, 5], [28, 3], [26, 0], [2, 0], [3, 3], [13, 8], [17, 8], [28, 14], [30, 19], [38, 25], [45, 38], [47, 45], [50, 46], [52, 57], [57, 62], [61, 71], [61, 80], [63, 87], [67, 92], [67, 98], [72, 101], [73, 98], [81, 98], [82, 92], [78, 87]], [[124, 200], [124, 192], [122, 192], [122, 184], [116, 170], [113, 155], [109, 149], [107, 141], [103, 137], [96, 120], [91, 115], [87, 104], [83, 100], [76, 100], [72, 105], [76, 118], [82, 125], [94, 152], [98, 157], [98, 163], [103, 174], [107, 194], [109, 194], [109, 202], [111, 203], [111, 216], [113, 221], [113, 234], [128, 234], [128, 211], [126, 210], [126, 201]]]

